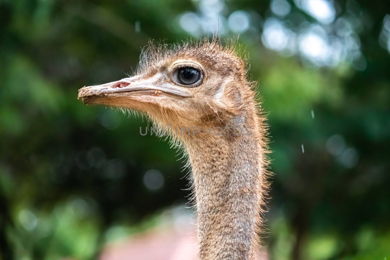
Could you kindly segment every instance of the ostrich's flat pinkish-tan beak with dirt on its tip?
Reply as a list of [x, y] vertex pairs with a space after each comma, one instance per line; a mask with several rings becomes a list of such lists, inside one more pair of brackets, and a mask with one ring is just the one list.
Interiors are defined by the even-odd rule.
[[[85, 104], [107, 104], [117, 99], [135, 99], [150, 103], [150, 97], [170, 96], [186, 98], [191, 94], [175, 88], [173, 84], [156, 79], [142, 79], [139, 76], [124, 78], [122, 80], [102, 85], [83, 87], [78, 90], [78, 99]], [[122, 103], [122, 102], [121, 102]], [[154, 102], [153, 102], [154, 103]]]

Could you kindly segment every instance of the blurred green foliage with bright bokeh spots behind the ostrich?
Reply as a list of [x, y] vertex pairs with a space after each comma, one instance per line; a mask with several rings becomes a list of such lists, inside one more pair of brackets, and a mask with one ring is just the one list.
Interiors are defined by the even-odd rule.
[[217, 28], [239, 35], [268, 113], [269, 259], [390, 259], [389, 13], [383, 0], [0, 0], [0, 259], [95, 259], [187, 202], [168, 142], [77, 90], [124, 78], [149, 39]]

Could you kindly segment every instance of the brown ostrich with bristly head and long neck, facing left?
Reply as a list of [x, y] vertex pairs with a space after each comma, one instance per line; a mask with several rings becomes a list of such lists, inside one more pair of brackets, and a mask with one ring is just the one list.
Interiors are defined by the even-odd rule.
[[199, 260], [255, 257], [268, 149], [253, 85], [233, 47], [205, 39], [149, 44], [135, 76], [79, 90], [85, 104], [145, 113], [183, 147], [191, 168]]

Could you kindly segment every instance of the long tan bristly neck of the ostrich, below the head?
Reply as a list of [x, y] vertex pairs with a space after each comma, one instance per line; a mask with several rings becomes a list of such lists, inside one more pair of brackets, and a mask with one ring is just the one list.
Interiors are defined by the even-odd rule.
[[254, 259], [263, 174], [259, 134], [206, 135], [187, 149], [195, 187], [198, 259]]

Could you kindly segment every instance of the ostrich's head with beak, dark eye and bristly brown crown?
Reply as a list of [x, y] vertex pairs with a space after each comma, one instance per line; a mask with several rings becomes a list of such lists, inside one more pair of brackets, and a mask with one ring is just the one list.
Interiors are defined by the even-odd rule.
[[234, 125], [245, 116], [253, 93], [245, 62], [219, 41], [168, 49], [149, 46], [133, 77], [84, 87], [85, 104], [139, 110], [166, 126]]

